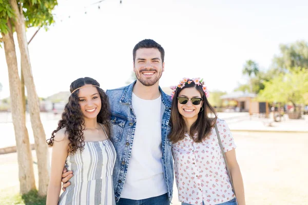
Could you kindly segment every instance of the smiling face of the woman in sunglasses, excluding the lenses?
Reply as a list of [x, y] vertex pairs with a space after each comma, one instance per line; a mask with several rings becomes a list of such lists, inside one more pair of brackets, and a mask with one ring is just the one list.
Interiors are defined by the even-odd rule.
[[[178, 97], [187, 97], [188, 99], [191, 98], [202, 98], [200, 92], [195, 88], [185, 88], [181, 90]], [[196, 121], [198, 119], [198, 114], [200, 109], [203, 105], [203, 101], [199, 105], [192, 104], [192, 100], [188, 100], [185, 105], [180, 104], [180, 100], [178, 100], [178, 109], [179, 113], [182, 115], [185, 121]]]

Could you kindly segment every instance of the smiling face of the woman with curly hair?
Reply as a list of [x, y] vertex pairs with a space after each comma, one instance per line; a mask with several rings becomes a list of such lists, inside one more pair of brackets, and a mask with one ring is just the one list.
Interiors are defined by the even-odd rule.
[[102, 108], [102, 101], [99, 91], [96, 87], [85, 85], [79, 89], [79, 105], [85, 118], [97, 118]]

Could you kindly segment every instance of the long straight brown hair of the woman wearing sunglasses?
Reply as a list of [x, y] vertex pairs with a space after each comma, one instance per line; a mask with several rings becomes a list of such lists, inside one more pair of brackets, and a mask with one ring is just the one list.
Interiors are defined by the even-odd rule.
[[[206, 139], [211, 132], [211, 128], [215, 126], [217, 120], [216, 111], [209, 104], [203, 92], [202, 85], [196, 85], [194, 82], [192, 82], [191, 84], [186, 84], [183, 88], [177, 88], [171, 103], [171, 132], [169, 134], [169, 139], [173, 143], [184, 139], [185, 136], [185, 122], [178, 109], [177, 97], [179, 93], [186, 88], [196, 88], [200, 92], [203, 101], [203, 111], [198, 113], [198, 118], [194, 124], [191, 125], [189, 131], [190, 136], [194, 136], [196, 133], [198, 133], [198, 136], [194, 139], [194, 141], [201, 142], [202, 140]], [[214, 115], [214, 117], [209, 117], [209, 114]]]

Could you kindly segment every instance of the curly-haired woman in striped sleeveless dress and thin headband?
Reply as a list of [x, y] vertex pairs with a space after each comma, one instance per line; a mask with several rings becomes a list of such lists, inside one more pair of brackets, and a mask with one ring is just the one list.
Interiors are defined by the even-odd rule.
[[[62, 119], [47, 140], [52, 158], [46, 204], [115, 204], [108, 97], [90, 77], [73, 81], [70, 92]], [[64, 165], [74, 175], [59, 199]]]

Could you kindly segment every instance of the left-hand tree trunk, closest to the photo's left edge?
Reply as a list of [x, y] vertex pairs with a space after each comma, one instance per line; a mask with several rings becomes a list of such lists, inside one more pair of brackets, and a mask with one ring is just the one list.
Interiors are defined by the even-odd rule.
[[26, 194], [35, 188], [33, 172], [33, 160], [31, 155], [30, 141], [25, 124], [25, 111], [23, 110], [21, 80], [18, 75], [15, 44], [10, 22], [10, 31], [2, 34], [4, 50], [8, 66], [12, 119], [15, 132], [18, 173], [20, 180], [20, 192]]

